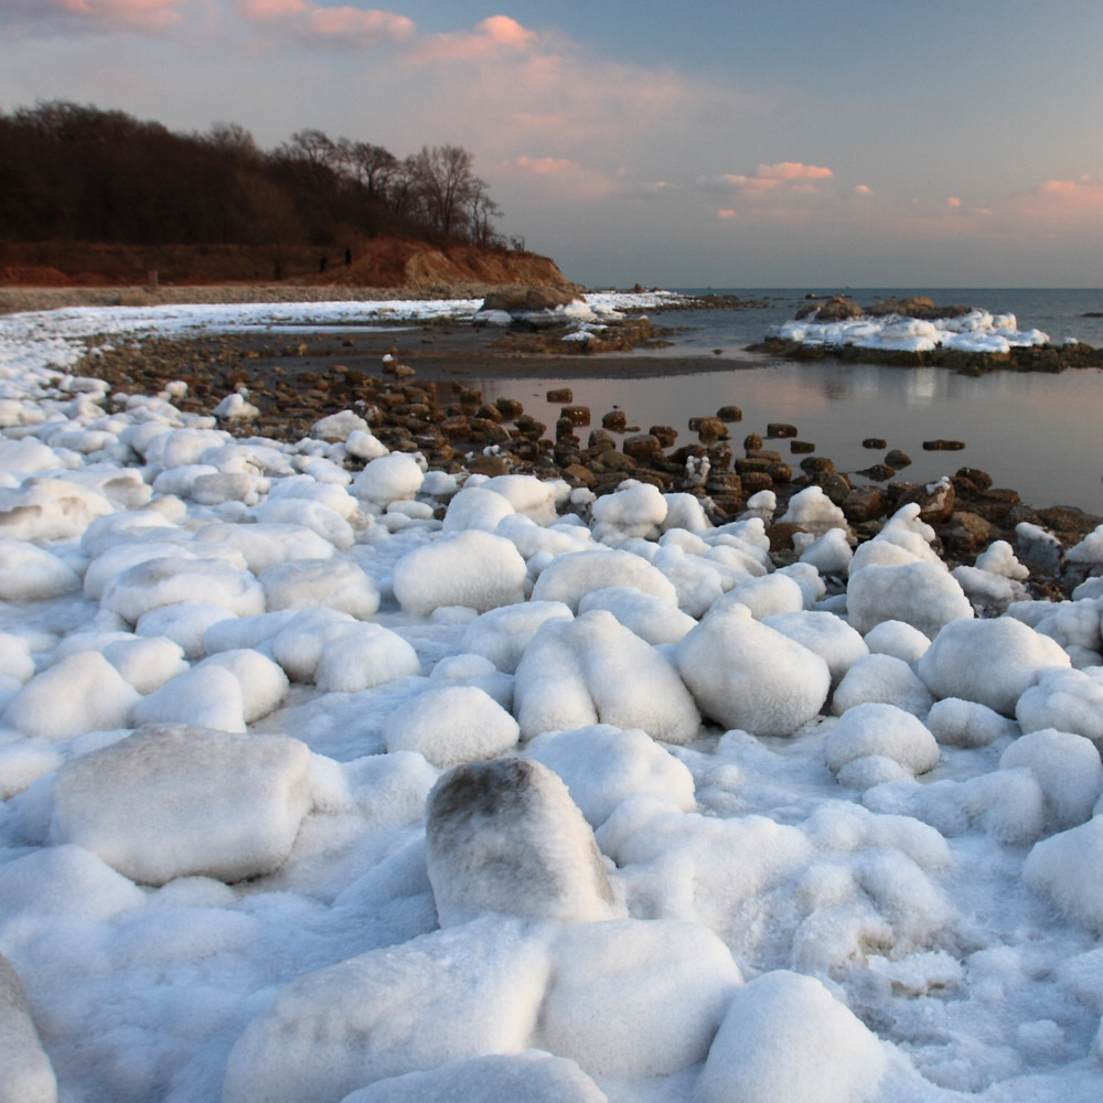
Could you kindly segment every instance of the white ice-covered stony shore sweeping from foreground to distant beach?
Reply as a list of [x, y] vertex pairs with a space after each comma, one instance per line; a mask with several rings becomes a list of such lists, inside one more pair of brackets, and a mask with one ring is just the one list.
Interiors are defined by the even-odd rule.
[[67, 374], [298, 317], [0, 319], [12, 1099], [1099, 1097], [1103, 529], [951, 572]]

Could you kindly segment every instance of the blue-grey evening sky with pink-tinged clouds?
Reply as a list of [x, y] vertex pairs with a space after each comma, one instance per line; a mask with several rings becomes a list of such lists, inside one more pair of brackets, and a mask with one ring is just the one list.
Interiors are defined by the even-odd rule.
[[452, 143], [590, 287], [1103, 287], [1097, 0], [0, 0], [0, 109]]

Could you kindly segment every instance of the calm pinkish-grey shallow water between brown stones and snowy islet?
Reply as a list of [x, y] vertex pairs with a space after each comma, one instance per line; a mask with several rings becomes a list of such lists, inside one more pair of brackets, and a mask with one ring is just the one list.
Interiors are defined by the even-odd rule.
[[[615, 406], [643, 430], [673, 425], [679, 442], [696, 439], [690, 417], [735, 405], [743, 411], [742, 422], [730, 427], [737, 445], [748, 432], [765, 436], [770, 421], [789, 421], [818, 454], [856, 471], [884, 459], [861, 440], [882, 437], [889, 448], [911, 456], [914, 463], [902, 473], [911, 481], [952, 474], [962, 465], [982, 468], [997, 485], [1018, 490], [1035, 505], [1078, 505], [1103, 514], [1103, 372], [1097, 370], [970, 378], [940, 368], [777, 363], [647, 379], [464, 382], [481, 387], [490, 400], [520, 398], [549, 425], [559, 407], [546, 401], [547, 390], [570, 387], [575, 403], [591, 408], [593, 425]], [[586, 430], [582, 435], [585, 440]], [[967, 447], [924, 451], [923, 441], [936, 438]], [[773, 447], [789, 454], [785, 441]]]

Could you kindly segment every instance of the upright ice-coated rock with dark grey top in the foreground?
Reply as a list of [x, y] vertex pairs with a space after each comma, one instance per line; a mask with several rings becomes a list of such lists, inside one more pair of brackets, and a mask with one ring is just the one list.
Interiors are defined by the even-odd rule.
[[593, 832], [540, 762], [446, 773], [429, 794], [425, 857], [443, 928], [484, 912], [569, 923], [614, 915]]

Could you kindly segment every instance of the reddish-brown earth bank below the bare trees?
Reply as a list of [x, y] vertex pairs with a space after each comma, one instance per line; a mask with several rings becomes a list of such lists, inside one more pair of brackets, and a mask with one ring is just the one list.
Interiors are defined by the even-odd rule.
[[[346, 263], [347, 261], [347, 263]], [[81, 242], [0, 243], [0, 286], [142, 286], [279, 282], [299, 287], [403, 288], [431, 295], [454, 287], [577, 289], [554, 260], [473, 245], [435, 246], [393, 237], [344, 248], [283, 249], [279, 266], [258, 246], [124, 246]], [[279, 271], [281, 279], [276, 279]]]

